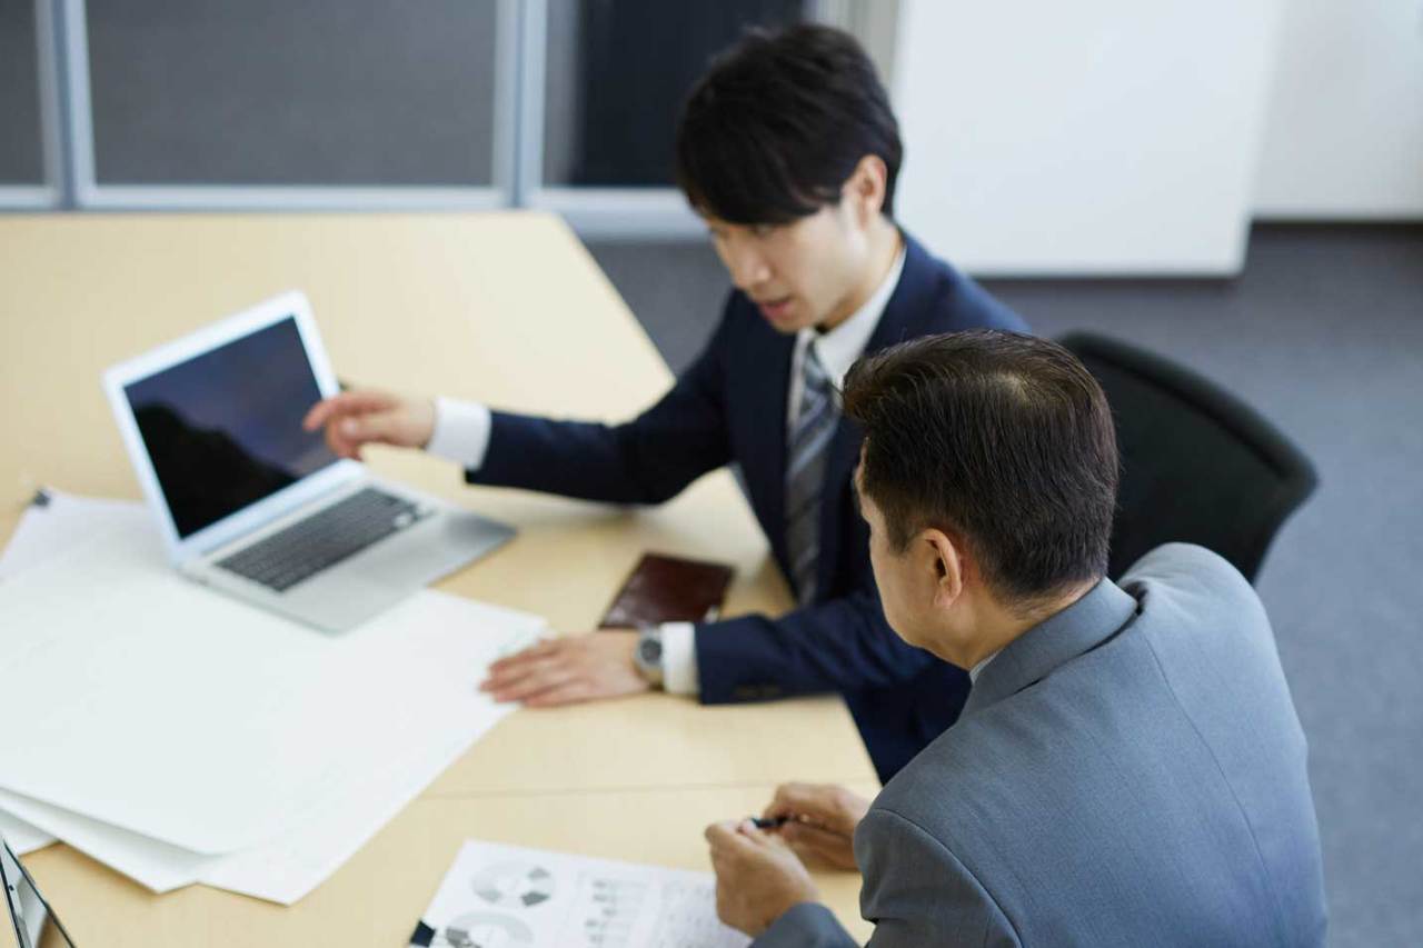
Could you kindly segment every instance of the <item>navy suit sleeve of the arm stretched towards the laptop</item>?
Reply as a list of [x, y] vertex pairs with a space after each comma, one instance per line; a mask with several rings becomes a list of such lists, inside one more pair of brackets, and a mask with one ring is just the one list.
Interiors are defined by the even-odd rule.
[[723, 399], [727, 319], [657, 404], [625, 424], [508, 411], [491, 418], [471, 484], [518, 487], [610, 504], [660, 504], [731, 460]]

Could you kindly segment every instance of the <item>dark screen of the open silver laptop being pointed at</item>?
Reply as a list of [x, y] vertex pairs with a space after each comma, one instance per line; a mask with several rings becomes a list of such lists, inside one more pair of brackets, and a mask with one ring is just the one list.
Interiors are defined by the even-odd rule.
[[179, 538], [336, 463], [302, 417], [320, 400], [289, 316], [124, 387]]

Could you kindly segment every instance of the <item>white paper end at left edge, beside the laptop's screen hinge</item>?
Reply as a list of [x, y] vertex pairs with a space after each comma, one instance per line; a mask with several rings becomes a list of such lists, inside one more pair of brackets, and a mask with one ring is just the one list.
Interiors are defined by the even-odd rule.
[[152, 514], [137, 501], [81, 497], [55, 490], [47, 490], [46, 495], [48, 504], [27, 507], [4, 552], [0, 552], [0, 579], [115, 530], [131, 537], [148, 534], [154, 548], [162, 542]]

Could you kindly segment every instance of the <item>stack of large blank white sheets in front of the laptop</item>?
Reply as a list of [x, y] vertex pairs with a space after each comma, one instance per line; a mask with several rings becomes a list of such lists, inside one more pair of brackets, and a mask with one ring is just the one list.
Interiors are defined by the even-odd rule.
[[282, 904], [511, 710], [477, 682], [542, 629], [424, 591], [324, 635], [181, 578], [137, 505], [64, 495], [0, 576], [0, 811], [28, 824], [0, 831]]

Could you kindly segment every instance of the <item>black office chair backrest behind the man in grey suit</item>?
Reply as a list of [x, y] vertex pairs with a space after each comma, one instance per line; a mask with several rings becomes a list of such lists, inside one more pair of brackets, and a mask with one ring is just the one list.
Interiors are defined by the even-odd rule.
[[1185, 541], [1254, 582], [1275, 532], [1315, 490], [1309, 458], [1248, 404], [1161, 356], [1093, 333], [1062, 344], [1101, 383], [1117, 421], [1121, 487], [1107, 575]]

